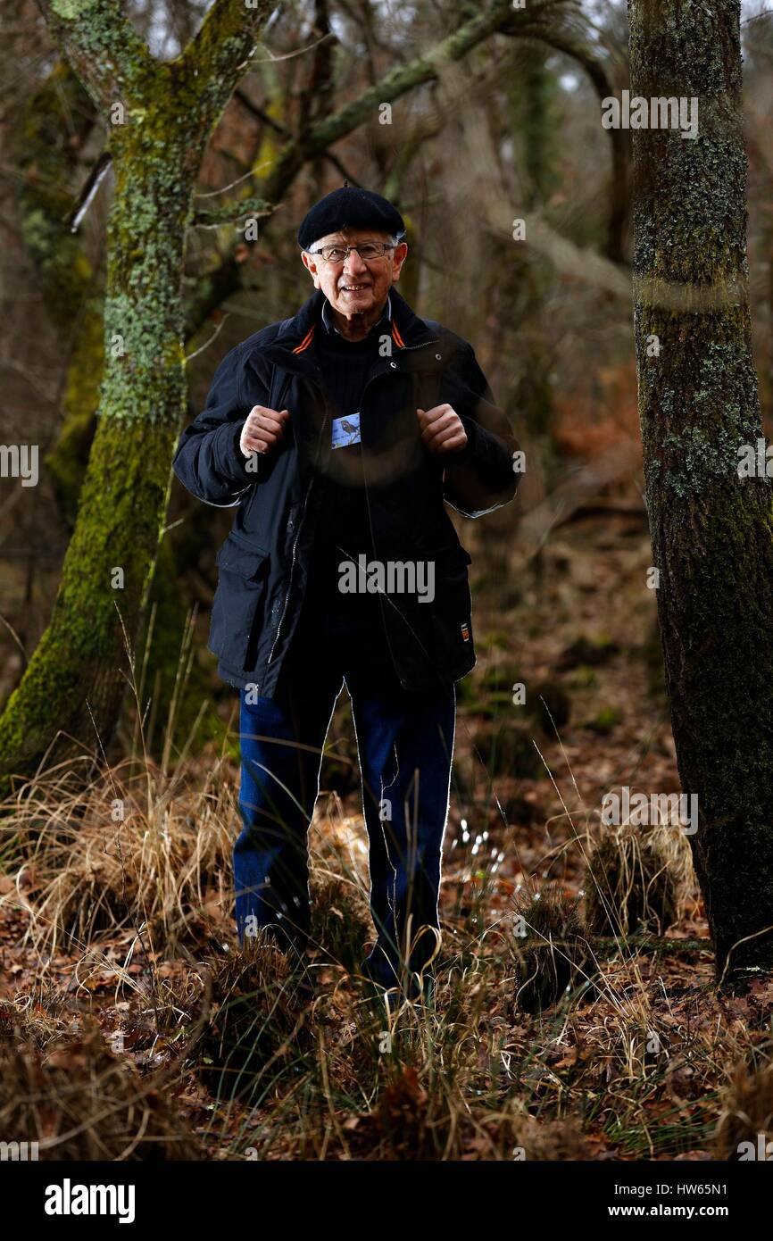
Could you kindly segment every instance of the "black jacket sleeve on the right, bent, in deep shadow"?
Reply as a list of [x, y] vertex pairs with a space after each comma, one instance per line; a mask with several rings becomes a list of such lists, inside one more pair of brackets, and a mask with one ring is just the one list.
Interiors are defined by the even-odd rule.
[[512, 454], [519, 442], [494, 401], [471, 345], [464, 344], [454, 371], [449, 403], [462, 419], [467, 444], [444, 459], [443, 494], [465, 517], [479, 517], [515, 496], [520, 474], [514, 472]]

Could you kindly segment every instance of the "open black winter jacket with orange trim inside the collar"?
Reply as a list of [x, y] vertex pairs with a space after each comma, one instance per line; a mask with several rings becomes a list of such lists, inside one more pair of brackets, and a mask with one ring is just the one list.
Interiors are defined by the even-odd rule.
[[[470, 345], [419, 319], [391, 289], [391, 356], [371, 367], [361, 402], [362, 460], [375, 557], [434, 561], [434, 599], [380, 598], [392, 658], [404, 689], [464, 676], [475, 664], [468, 565], [444, 500], [469, 517], [515, 495], [512, 438]], [[321, 503], [320, 470], [331, 449], [330, 401], [315, 360], [324, 294], [294, 318], [263, 328], [222, 360], [206, 406], [182, 433], [174, 459], [200, 500], [235, 508], [217, 553], [210, 650], [230, 685], [272, 697], [304, 598]], [[423, 446], [417, 407], [448, 402], [468, 434], [453, 454]], [[257, 458], [239, 450], [254, 405], [290, 411], [277, 446]], [[254, 458], [253, 458], [254, 464]]]

